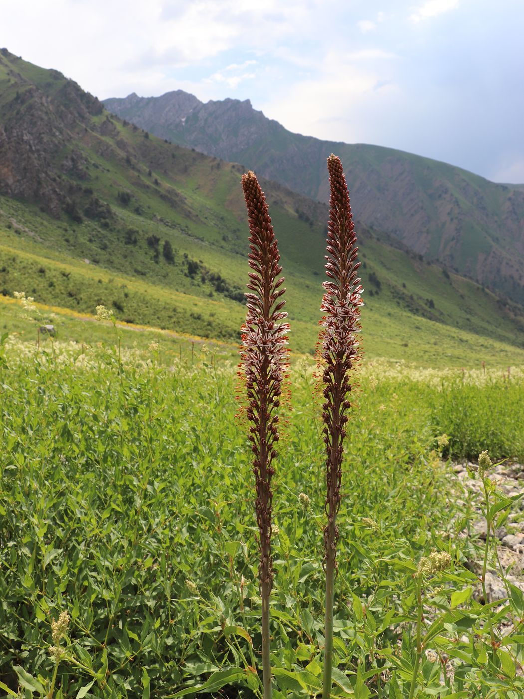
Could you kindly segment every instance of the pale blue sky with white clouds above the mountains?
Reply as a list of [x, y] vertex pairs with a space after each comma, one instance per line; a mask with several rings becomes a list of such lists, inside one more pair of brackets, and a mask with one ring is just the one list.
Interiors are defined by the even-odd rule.
[[100, 99], [249, 99], [307, 136], [524, 182], [524, 0], [0, 0], [0, 47]]

